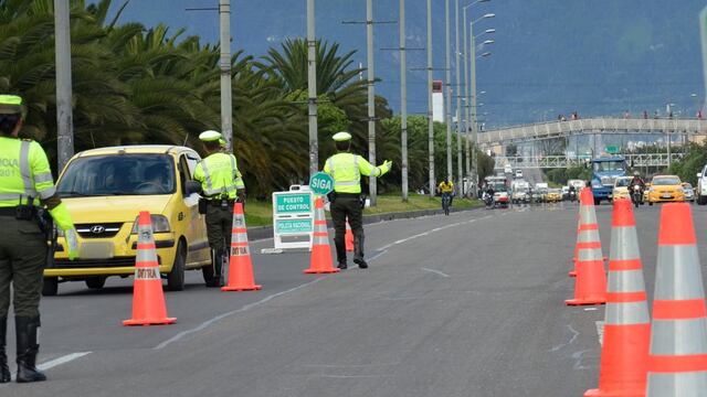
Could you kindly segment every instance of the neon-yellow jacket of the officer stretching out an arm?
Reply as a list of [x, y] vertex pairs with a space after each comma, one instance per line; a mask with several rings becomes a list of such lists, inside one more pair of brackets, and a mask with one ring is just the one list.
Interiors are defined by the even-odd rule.
[[337, 193], [361, 193], [361, 175], [381, 176], [388, 169], [371, 165], [366, 159], [352, 153], [337, 153], [327, 159], [324, 172], [334, 179]]

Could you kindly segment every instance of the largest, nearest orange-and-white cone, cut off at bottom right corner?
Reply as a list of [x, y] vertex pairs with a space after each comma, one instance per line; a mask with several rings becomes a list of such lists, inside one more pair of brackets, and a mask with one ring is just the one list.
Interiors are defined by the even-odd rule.
[[707, 308], [689, 204], [661, 211], [648, 397], [707, 395]]

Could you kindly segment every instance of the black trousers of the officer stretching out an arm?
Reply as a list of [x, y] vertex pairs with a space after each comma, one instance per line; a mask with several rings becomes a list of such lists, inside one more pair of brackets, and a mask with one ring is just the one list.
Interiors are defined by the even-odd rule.
[[334, 244], [339, 264], [346, 264], [346, 219], [349, 219], [354, 233], [354, 258], [363, 259], [363, 210], [358, 194], [341, 194], [331, 203], [334, 221]]

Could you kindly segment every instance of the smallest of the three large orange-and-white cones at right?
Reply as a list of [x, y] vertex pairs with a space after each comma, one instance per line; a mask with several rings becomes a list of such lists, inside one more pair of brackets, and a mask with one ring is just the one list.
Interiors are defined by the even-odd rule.
[[580, 225], [577, 243], [577, 278], [574, 299], [569, 305], [601, 304], [606, 302], [606, 273], [599, 240], [599, 225], [594, 213], [592, 192], [584, 187], [580, 194]]

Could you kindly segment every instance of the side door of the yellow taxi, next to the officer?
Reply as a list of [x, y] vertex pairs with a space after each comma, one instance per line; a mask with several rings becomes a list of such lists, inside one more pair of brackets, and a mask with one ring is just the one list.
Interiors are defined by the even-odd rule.
[[199, 214], [199, 198], [197, 193], [187, 194], [187, 182], [193, 180], [194, 170], [199, 162], [197, 153], [187, 152], [179, 158], [179, 174], [182, 185], [182, 200], [188, 208], [186, 216], [189, 219], [189, 228], [186, 232], [189, 240], [189, 255], [187, 265], [193, 266], [210, 259], [209, 240], [204, 215]]

